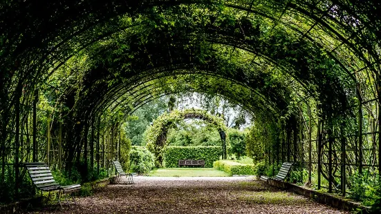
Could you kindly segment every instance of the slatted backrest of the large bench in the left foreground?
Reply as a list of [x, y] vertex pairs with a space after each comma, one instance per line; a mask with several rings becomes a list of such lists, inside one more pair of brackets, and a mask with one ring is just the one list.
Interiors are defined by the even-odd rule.
[[28, 170], [30, 179], [33, 184], [41, 190], [50, 188], [59, 188], [59, 184], [55, 182], [52, 172], [46, 163], [24, 163], [24, 166]]

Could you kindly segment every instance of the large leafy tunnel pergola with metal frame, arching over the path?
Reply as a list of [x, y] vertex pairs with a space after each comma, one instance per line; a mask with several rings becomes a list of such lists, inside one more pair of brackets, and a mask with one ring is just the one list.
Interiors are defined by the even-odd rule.
[[380, 9], [360, 0], [3, 1], [0, 182], [17, 194], [28, 161], [99, 171], [133, 110], [187, 91], [221, 95], [276, 127], [268, 164], [298, 162], [319, 188], [380, 172]]

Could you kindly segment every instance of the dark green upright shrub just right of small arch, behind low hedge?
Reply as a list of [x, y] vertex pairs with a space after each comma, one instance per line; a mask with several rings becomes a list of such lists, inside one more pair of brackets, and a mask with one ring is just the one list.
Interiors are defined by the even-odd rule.
[[246, 142], [243, 132], [230, 128], [227, 132], [227, 144], [230, 144], [231, 153], [236, 155], [237, 158], [245, 155]]

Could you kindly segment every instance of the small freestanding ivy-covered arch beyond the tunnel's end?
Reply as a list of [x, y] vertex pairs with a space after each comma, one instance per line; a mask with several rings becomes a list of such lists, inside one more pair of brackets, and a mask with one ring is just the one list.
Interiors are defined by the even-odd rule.
[[156, 118], [147, 131], [147, 148], [156, 157], [156, 166], [162, 166], [162, 153], [165, 149], [169, 128], [172, 128], [179, 121], [184, 119], [202, 119], [219, 130], [223, 153], [226, 153], [225, 136], [227, 127], [222, 117], [210, 115], [205, 110], [189, 108], [185, 110], [172, 110]]

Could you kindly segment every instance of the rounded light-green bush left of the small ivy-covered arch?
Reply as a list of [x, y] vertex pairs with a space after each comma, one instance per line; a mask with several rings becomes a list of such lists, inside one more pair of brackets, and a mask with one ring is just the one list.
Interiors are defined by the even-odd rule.
[[147, 148], [132, 146], [129, 153], [130, 168], [139, 175], [149, 173], [154, 168], [155, 157]]

